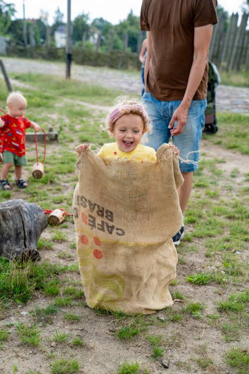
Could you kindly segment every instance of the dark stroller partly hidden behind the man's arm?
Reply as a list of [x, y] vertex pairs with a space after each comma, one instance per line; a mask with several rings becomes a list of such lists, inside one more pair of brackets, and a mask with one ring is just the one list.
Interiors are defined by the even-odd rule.
[[220, 74], [217, 67], [212, 62], [208, 63], [208, 92], [207, 92], [207, 109], [205, 111], [205, 128], [204, 131], [209, 134], [215, 134], [218, 131], [215, 105], [215, 90], [221, 82]]

